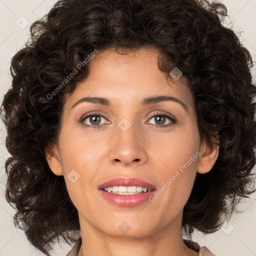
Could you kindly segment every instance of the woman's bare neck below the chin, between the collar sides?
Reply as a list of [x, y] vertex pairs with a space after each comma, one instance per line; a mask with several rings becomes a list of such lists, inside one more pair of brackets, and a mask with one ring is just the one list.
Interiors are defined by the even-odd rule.
[[149, 235], [127, 232], [108, 234], [93, 227], [79, 215], [82, 245], [78, 256], [197, 256], [198, 253], [183, 243], [181, 232], [181, 216], [164, 228]]

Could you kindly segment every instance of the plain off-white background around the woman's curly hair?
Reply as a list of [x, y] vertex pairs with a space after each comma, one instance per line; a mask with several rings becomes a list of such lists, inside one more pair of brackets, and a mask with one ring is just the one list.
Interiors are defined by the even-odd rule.
[[[0, 0], [0, 100], [11, 84], [10, 59], [29, 36], [31, 23], [48, 12], [56, 0]], [[157, 1], [156, 1], [157, 2]], [[221, 0], [227, 6], [230, 18], [225, 24], [232, 24], [242, 44], [249, 49], [256, 60], [256, 0]], [[254, 83], [255, 71], [253, 70]], [[43, 255], [32, 247], [20, 230], [14, 227], [12, 216], [15, 211], [4, 199], [4, 161], [9, 156], [4, 146], [5, 130], [0, 122], [0, 256]], [[256, 255], [256, 194], [239, 205], [243, 213], [233, 215], [219, 231], [193, 237], [201, 246], [207, 246], [216, 256]], [[55, 246], [53, 256], [63, 256], [71, 248], [68, 245]]]

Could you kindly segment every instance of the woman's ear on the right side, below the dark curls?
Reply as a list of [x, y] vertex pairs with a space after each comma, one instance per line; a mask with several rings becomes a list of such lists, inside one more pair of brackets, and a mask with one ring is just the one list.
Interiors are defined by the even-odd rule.
[[204, 140], [201, 142], [199, 149], [201, 154], [197, 161], [197, 172], [206, 173], [211, 170], [218, 158], [218, 149], [218, 145], [213, 145]]

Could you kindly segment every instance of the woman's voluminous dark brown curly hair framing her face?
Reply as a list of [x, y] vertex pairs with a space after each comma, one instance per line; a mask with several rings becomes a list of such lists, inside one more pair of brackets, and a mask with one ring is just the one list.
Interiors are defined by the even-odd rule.
[[50, 170], [45, 148], [58, 141], [64, 97], [86, 79], [89, 63], [51, 99], [47, 95], [94, 49], [150, 45], [159, 52], [159, 70], [167, 75], [178, 67], [187, 78], [200, 135], [219, 145], [211, 171], [196, 174], [184, 206], [187, 235], [216, 231], [255, 191], [252, 58], [222, 25], [226, 15], [225, 5], [207, 0], [60, 0], [33, 22], [29, 40], [12, 57], [12, 86], [1, 104], [11, 154], [5, 197], [16, 207], [15, 225], [22, 220], [29, 226], [25, 234], [33, 246], [49, 256], [55, 238], [70, 244], [80, 228], [64, 178]]

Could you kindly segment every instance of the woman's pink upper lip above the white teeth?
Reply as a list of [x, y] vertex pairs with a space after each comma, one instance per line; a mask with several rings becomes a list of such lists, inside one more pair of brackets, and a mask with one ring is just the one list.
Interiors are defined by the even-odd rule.
[[106, 188], [109, 186], [142, 186], [150, 190], [155, 189], [155, 186], [139, 178], [123, 178], [117, 177], [105, 181], [99, 185], [99, 189]]

